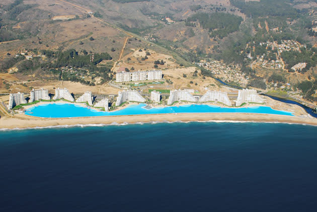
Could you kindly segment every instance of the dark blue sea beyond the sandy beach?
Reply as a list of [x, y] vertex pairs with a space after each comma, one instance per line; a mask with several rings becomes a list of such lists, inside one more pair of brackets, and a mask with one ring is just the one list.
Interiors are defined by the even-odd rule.
[[0, 211], [317, 211], [317, 128], [174, 123], [0, 132]]

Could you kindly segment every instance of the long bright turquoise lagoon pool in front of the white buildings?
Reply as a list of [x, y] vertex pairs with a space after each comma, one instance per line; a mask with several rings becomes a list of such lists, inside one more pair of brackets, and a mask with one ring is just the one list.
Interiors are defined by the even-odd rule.
[[133, 104], [129, 107], [113, 112], [100, 112], [95, 109], [82, 107], [72, 103], [48, 103], [28, 109], [25, 114], [43, 118], [73, 118], [97, 116], [124, 116], [146, 114], [177, 114], [177, 113], [251, 113], [251, 114], [276, 114], [293, 116], [291, 112], [277, 111], [270, 107], [249, 108], [222, 108], [207, 104], [188, 104], [172, 107], [157, 107], [145, 109], [146, 104]]

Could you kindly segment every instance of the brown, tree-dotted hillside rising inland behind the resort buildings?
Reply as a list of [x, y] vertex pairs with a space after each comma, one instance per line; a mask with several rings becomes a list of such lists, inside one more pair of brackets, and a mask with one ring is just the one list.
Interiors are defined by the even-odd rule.
[[[6, 0], [1, 4], [2, 64], [11, 64], [7, 61], [13, 61], [25, 49], [74, 49], [90, 56], [108, 53], [112, 60], [102, 62], [111, 69], [110, 78], [102, 81], [106, 82], [119, 66], [132, 67], [126, 61], [129, 55], [146, 48], [155, 55], [170, 55], [176, 67], [220, 61], [221, 67], [234, 67], [243, 76], [235, 80], [221, 72], [219, 76], [227, 82], [284, 90], [317, 100], [313, 93], [317, 79], [315, 1]], [[49, 61], [53, 63], [55, 59]], [[6, 65], [2, 71], [12, 72], [22, 62]], [[150, 68], [152, 61], [147, 63]], [[29, 77], [45, 75], [43, 67], [31, 69]], [[205, 76], [212, 76], [213, 72], [202, 69]], [[274, 74], [283, 79], [272, 80]], [[305, 81], [312, 83], [306, 83], [309, 92], [301, 89], [300, 83]]]

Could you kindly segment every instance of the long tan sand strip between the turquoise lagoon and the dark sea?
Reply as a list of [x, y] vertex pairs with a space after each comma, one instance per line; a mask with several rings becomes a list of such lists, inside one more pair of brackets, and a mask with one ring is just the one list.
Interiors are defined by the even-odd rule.
[[243, 113], [193, 113], [193, 114], [155, 114], [155, 115], [129, 115], [111, 117], [89, 118], [37, 118], [26, 115], [15, 117], [2, 117], [0, 129], [19, 130], [30, 128], [76, 127], [92, 125], [122, 125], [140, 123], [173, 123], [173, 122], [256, 122], [256, 123], [283, 123], [317, 126], [317, 119]]

